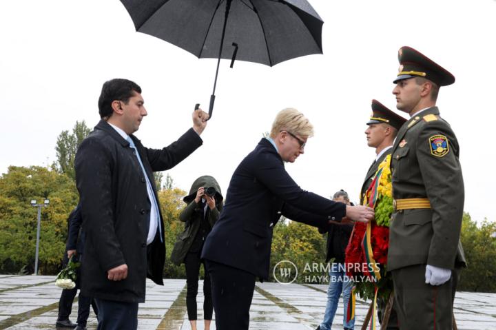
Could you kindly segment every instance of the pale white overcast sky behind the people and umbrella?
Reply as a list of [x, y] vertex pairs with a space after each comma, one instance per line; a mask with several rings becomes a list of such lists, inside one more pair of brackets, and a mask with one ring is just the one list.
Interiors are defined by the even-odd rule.
[[[375, 157], [364, 134], [371, 99], [395, 110], [397, 50], [409, 45], [456, 77], [437, 105], [459, 141], [464, 209], [475, 220], [496, 220], [496, 1], [310, 2], [324, 20], [324, 54], [273, 68], [236, 61], [229, 69], [222, 61], [203, 146], [168, 172], [176, 185], [189, 190], [209, 174], [225, 192], [276, 113], [296, 107], [316, 135], [286, 166], [289, 174], [303, 189], [323, 196], [345, 189], [357, 202]], [[61, 131], [98, 123], [108, 79], [141, 85], [148, 116], [136, 136], [147, 147], [164, 147], [191, 127], [195, 103], [208, 108], [216, 60], [135, 32], [118, 0], [1, 0], [0, 31], [0, 173], [55, 161]]]

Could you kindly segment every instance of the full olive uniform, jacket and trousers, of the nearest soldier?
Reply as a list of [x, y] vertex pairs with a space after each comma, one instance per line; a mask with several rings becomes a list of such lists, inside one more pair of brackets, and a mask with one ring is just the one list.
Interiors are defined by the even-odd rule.
[[451, 329], [457, 271], [440, 286], [425, 284], [425, 267], [465, 264], [459, 243], [464, 183], [459, 145], [437, 107], [415, 114], [398, 132], [391, 156], [393, 198], [427, 198], [429, 207], [393, 213], [388, 269], [393, 271], [401, 329]]

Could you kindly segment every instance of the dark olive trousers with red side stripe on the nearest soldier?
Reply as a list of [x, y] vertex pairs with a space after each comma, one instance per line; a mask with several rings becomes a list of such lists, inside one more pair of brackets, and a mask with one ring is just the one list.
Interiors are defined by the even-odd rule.
[[425, 283], [426, 265], [393, 270], [395, 309], [402, 330], [453, 329], [453, 299], [459, 270], [443, 285]]

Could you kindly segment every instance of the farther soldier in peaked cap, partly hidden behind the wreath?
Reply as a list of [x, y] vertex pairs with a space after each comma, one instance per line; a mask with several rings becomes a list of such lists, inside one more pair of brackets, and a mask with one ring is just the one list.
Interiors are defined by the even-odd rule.
[[[393, 141], [397, 135], [398, 130], [406, 122], [402, 116], [395, 114], [387, 107], [382, 105], [377, 100], [372, 100], [372, 114], [370, 120], [366, 125], [369, 125], [365, 130], [367, 145], [375, 148], [377, 155], [371, 165], [364, 179], [362, 190], [360, 191], [360, 203], [363, 204], [364, 197], [367, 189], [372, 183], [375, 173], [378, 171], [380, 163], [391, 154], [393, 149]], [[384, 311], [386, 309], [386, 301], [378, 300], [378, 316], [380, 323], [384, 318]], [[389, 314], [389, 320], [386, 329], [399, 329], [397, 314], [393, 307]]]

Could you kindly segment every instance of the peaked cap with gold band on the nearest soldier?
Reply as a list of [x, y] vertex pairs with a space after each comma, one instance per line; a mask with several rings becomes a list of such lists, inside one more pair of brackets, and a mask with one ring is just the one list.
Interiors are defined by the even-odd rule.
[[393, 83], [414, 76], [423, 76], [438, 86], [447, 86], [455, 82], [455, 76], [448, 70], [411, 47], [404, 46], [398, 50], [398, 61], [400, 69]]

